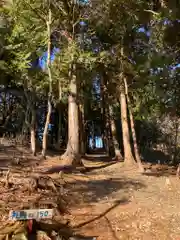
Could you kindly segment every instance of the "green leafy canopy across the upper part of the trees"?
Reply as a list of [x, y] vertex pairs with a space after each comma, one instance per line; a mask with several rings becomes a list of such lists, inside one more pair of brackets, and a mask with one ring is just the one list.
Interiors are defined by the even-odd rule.
[[[86, 92], [89, 99], [93, 98], [91, 72], [95, 72], [106, 75], [108, 99], [118, 104], [124, 74], [136, 118], [159, 116], [172, 108], [178, 113], [179, 71], [172, 66], [179, 62], [180, 28], [176, 21], [179, 10], [173, 5], [159, 7], [145, 0], [105, 0], [92, 6], [72, 1], [15, 0], [1, 8], [1, 74], [12, 74], [13, 82], [22, 85], [24, 77], [30, 78], [36, 91], [46, 94], [47, 73], [34, 71], [31, 63], [34, 55], [38, 57], [47, 49], [49, 7], [52, 45], [60, 49], [51, 66], [57, 101], [60, 95], [61, 100], [67, 100], [69, 68], [76, 63], [79, 94]], [[82, 19], [88, 25], [84, 47], [78, 37]], [[145, 32], [138, 31], [140, 27]], [[98, 49], [96, 53], [93, 48]]]

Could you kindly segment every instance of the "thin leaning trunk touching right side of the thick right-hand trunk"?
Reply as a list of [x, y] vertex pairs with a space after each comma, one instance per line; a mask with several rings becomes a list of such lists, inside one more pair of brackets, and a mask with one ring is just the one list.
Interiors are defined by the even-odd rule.
[[143, 165], [141, 162], [139, 149], [138, 149], [138, 145], [137, 145], [136, 131], [135, 131], [135, 126], [134, 126], [133, 114], [132, 114], [132, 110], [131, 110], [131, 102], [130, 102], [130, 98], [128, 95], [128, 85], [127, 85], [126, 78], [124, 78], [124, 85], [125, 85], [125, 92], [126, 92], [127, 104], [128, 104], [128, 109], [129, 109], [129, 117], [130, 117], [130, 125], [131, 125], [135, 159], [137, 161], [140, 172], [144, 172], [144, 168], [143, 168]]

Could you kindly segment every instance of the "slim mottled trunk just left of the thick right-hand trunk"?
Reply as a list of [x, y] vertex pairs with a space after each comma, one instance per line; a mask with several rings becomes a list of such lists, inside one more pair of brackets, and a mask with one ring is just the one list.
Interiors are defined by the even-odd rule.
[[116, 124], [113, 117], [113, 108], [112, 106], [109, 106], [109, 114], [110, 114], [110, 127], [111, 127], [111, 133], [112, 133], [112, 141], [113, 141], [113, 147], [114, 147], [114, 153], [115, 153], [115, 159], [122, 160], [122, 154], [119, 148], [119, 143], [117, 140], [117, 131], [116, 131]]

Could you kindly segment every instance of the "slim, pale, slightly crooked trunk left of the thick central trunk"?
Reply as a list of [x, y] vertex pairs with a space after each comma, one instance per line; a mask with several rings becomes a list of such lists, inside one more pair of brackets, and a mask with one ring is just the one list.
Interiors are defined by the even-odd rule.
[[46, 22], [47, 24], [47, 35], [48, 35], [48, 49], [47, 49], [47, 70], [49, 76], [49, 96], [48, 96], [48, 111], [46, 115], [46, 122], [43, 132], [42, 140], [42, 156], [46, 158], [47, 150], [47, 136], [48, 136], [48, 126], [50, 123], [50, 117], [52, 113], [51, 97], [52, 97], [52, 75], [51, 75], [51, 9], [49, 9], [49, 18]]

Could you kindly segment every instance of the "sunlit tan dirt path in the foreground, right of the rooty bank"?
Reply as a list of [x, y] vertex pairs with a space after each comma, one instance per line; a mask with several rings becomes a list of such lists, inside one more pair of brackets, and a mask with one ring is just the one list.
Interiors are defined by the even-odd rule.
[[66, 218], [80, 234], [97, 240], [180, 239], [180, 182], [174, 176], [146, 176], [122, 163], [101, 168], [96, 158], [85, 165], [95, 170], [65, 175]]

